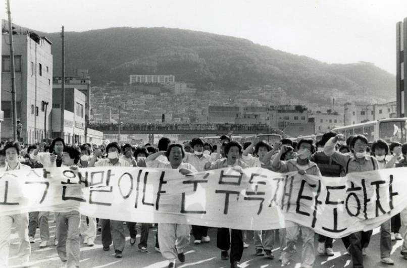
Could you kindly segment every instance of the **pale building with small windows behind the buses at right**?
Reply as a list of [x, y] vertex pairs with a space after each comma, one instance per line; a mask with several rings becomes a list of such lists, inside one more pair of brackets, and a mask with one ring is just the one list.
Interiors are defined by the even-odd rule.
[[387, 103], [353, 102], [344, 104], [344, 125], [359, 124], [373, 120], [396, 117], [396, 101]]

